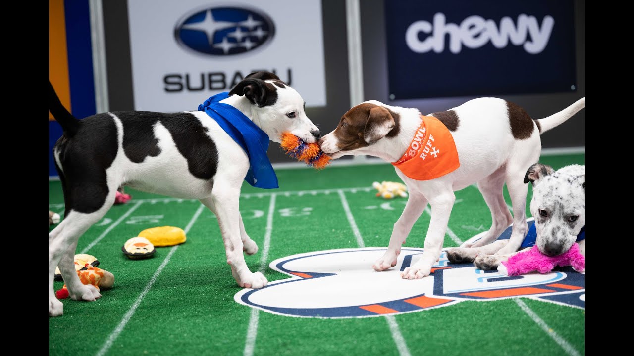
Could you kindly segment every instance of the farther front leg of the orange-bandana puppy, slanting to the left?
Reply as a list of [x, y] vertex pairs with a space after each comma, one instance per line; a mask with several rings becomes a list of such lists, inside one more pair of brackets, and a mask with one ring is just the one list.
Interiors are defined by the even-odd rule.
[[372, 265], [372, 268], [378, 271], [387, 270], [396, 265], [396, 258], [401, 253], [401, 245], [405, 243], [405, 239], [410, 234], [411, 227], [414, 226], [420, 214], [427, 207], [427, 199], [419, 192], [413, 192], [410, 189], [410, 196], [401, 213], [401, 217], [394, 223], [390, 244], [387, 246], [383, 257]]

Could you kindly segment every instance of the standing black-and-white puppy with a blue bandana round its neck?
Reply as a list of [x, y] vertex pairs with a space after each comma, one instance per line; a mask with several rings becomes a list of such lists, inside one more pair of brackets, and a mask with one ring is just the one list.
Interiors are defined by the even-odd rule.
[[[285, 131], [307, 143], [320, 136], [306, 117], [304, 99], [274, 73], [247, 75], [221, 103], [242, 111], [272, 141], [279, 143]], [[257, 252], [238, 210], [249, 158], [216, 120], [204, 111], [113, 111], [77, 120], [52, 86], [49, 110], [64, 129], [53, 155], [65, 202], [65, 219], [49, 233], [50, 316], [63, 314], [53, 291], [58, 265], [71, 298], [101, 296], [79, 281], [73, 266], [75, 248], [79, 237], [112, 207], [120, 186], [200, 200], [217, 216], [227, 263], [238, 285], [266, 286], [266, 278], [250, 272], [242, 253]]]

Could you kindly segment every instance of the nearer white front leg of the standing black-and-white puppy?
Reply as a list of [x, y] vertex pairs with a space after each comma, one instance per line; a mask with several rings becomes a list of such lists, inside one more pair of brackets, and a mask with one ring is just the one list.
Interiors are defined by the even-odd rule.
[[[231, 274], [238, 286], [244, 288], [262, 288], [268, 281], [260, 272], [252, 273], [244, 260], [242, 237], [240, 234], [240, 189], [221, 186], [216, 183], [212, 191], [212, 206], [216, 210], [218, 225], [223, 235], [224, 251], [227, 264], [231, 266]], [[207, 207], [207, 200], [201, 200]]]

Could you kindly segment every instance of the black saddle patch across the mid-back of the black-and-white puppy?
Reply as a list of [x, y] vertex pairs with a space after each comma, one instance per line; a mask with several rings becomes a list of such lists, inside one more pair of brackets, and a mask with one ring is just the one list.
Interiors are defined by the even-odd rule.
[[143, 162], [146, 156], [160, 154], [157, 146], [159, 140], [154, 136], [152, 129], [160, 122], [169, 131], [179, 153], [187, 160], [188, 169], [194, 177], [211, 179], [216, 174], [216, 144], [207, 135], [207, 127], [204, 127], [193, 114], [152, 111], [115, 111], [113, 114], [123, 123], [124, 152], [133, 162], [137, 161], [131, 157]]

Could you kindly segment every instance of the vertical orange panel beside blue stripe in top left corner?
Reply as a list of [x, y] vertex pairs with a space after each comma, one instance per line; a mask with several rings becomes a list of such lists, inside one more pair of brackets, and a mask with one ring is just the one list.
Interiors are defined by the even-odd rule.
[[[68, 79], [68, 49], [64, 0], [48, 1], [48, 80], [51, 81], [61, 104], [70, 111], [70, 79]], [[48, 114], [53, 121], [53, 115]]]

